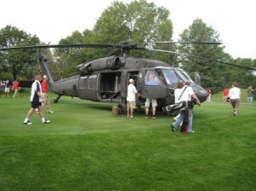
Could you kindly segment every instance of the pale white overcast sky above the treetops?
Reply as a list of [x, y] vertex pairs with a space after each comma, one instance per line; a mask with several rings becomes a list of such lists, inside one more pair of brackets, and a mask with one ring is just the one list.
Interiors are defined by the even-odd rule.
[[[119, 0], [131, 3], [133, 0]], [[233, 58], [256, 59], [255, 0], [147, 0], [170, 10], [174, 36], [203, 20], [219, 33]], [[0, 29], [15, 26], [44, 43], [55, 44], [72, 32], [92, 29], [113, 0], [2, 0]]]

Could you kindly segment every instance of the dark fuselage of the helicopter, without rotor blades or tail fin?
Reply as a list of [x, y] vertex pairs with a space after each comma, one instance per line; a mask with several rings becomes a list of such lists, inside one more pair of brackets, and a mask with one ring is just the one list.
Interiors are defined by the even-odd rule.
[[[177, 83], [186, 81], [189, 81], [201, 102], [206, 101], [208, 96], [207, 91], [195, 84], [183, 69], [170, 67], [161, 61], [110, 56], [80, 64], [79, 70], [77, 76], [50, 82], [51, 91], [59, 97], [125, 103], [128, 82], [133, 78], [141, 94], [138, 104], [143, 104], [146, 98], [156, 98], [161, 107], [173, 104]], [[157, 83], [148, 85], [149, 76], [154, 76]]]

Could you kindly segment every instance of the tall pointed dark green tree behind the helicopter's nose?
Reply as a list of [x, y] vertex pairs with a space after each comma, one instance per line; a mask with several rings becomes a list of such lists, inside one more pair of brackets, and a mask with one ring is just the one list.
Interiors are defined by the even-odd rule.
[[[185, 29], [180, 34], [180, 41], [211, 41], [220, 42], [218, 32], [212, 27], [207, 26], [202, 20], [194, 20], [189, 29]], [[185, 70], [190, 74], [199, 72], [203, 87], [222, 87], [224, 86], [222, 77], [226, 66], [218, 63], [218, 60], [230, 61], [231, 57], [224, 53], [224, 47], [213, 44], [182, 44], [179, 51], [184, 54], [196, 55], [210, 59], [201, 59], [190, 56], [179, 56]], [[215, 61], [214, 61], [215, 60]]]

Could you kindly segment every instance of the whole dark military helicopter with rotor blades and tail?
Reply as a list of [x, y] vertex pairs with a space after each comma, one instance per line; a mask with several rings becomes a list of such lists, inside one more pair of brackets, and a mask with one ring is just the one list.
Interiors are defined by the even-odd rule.
[[[79, 97], [82, 100], [114, 102], [119, 103], [125, 108], [127, 86], [129, 79], [136, 82], [137, 91], [140, 97], [137, 100], [137, 106], [143, 105], [146, 98], [155, 98], [158, 107], [166, 107], [173, 104], [174, 90], [177, 89], [178, 82], [189, 82], [198, 99], [203, 102], [207, 100], [207, 91], [200, 85], [200, 75], [195, 72], [195, 81], [189, 77], [189, 74], [183, 69], [172, 67], [163, 61], [154, 61], [144, 58], [129, 57], [130, 50], [147, 49], [151, 51], [165, 51], [167, 53], [175, 53], [161, 49], [153, 49], [154, 43], [206, 43], [220, 44], [218, 42], [150, 42], [146, 46], [133, 43], [118, 44], [48, 44], [34, 45], [23, 47], [0, 48], [0, 51], [10, 49], [49, 49], [49, 48], [109, 48], [120, 49], [122, 56], [110, 55], [99, 58], [94, 61], [88, 61], [78, 65], [79, 74], [70, 78], [54, 81], [49, 68], [47, 67], [47, 59], [44, 55], [39, 54], [38, 65], [43, 75], [49, 78], [49, 89], [54, 92], [57, 97], [54, 102], [57, 103], [61, 96]], [[206, 59], [204, 57], [189, 55]], [[209, 60], [209, 59], [207, 59]], [[224, 63], [224, 62], [223, 62]], [[228, 63], [226, 63], [228, 64]], [[154, 75], [157, 85], [147, 85], [150, 75]], [[31, 87], [31, 83], [21, 82], [20, 87]]]

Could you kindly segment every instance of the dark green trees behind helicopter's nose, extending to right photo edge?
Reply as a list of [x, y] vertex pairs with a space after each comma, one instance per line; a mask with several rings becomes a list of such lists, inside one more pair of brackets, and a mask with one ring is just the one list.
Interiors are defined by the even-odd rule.
[[[212, 41], [220, 42], [218, 32], [212, 27], [207, 26], [202, 20], [194, 20], [189, 29], [185, 29], [180, 35], [180, 41]], [[212, 88], [213, 92], [230, 87], [232, 81], [239, 82], [242, 88], [248, 84], [255, 83], [253, 71], [240, 67], [255, 68], [255, 61], [251, 59], [236, 59], [224, 52], [224, 46], [211, 44], [182, 44], [179, 46], [180, 53], [201, 56], [207, 59], [196, 58], [193, 56], [178, 56], [179, 62], [184, 69], [191, 75], [199, 72], [201, 84], [205, 88]], [[225, 63], [235, 64], [240, 67], [230, 66]], [[192, 76], [192, 75], [191, 75]]]

